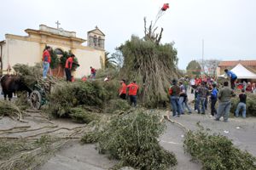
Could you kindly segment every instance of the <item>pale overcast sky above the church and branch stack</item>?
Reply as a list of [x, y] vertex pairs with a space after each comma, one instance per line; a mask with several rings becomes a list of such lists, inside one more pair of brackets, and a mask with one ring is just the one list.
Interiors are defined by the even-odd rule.
[[112, 53], [132, 34], [143, 37], [143, 17], [154, 20], [163, 3], [170, 8], [157, 25], [164, 28], [162, 42], [175, 42], [179, 68], [201, 59], [202, 39], [205, 59], [256, 59], [256, 0], [1, 0], [0, 41], [60, 20], [85, 39], [98, 26]]

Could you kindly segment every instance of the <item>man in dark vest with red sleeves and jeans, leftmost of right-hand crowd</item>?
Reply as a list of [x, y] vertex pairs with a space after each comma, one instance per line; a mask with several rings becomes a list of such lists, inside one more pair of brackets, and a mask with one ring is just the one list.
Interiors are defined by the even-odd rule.
[[172, 80], [172, 86], [169, 88], [170, 103], [172, 105], [172, 116], [180, 116], [180, 105], [179, 105], [179, 94], [180, 88], [177, 85], [177, 80]]

